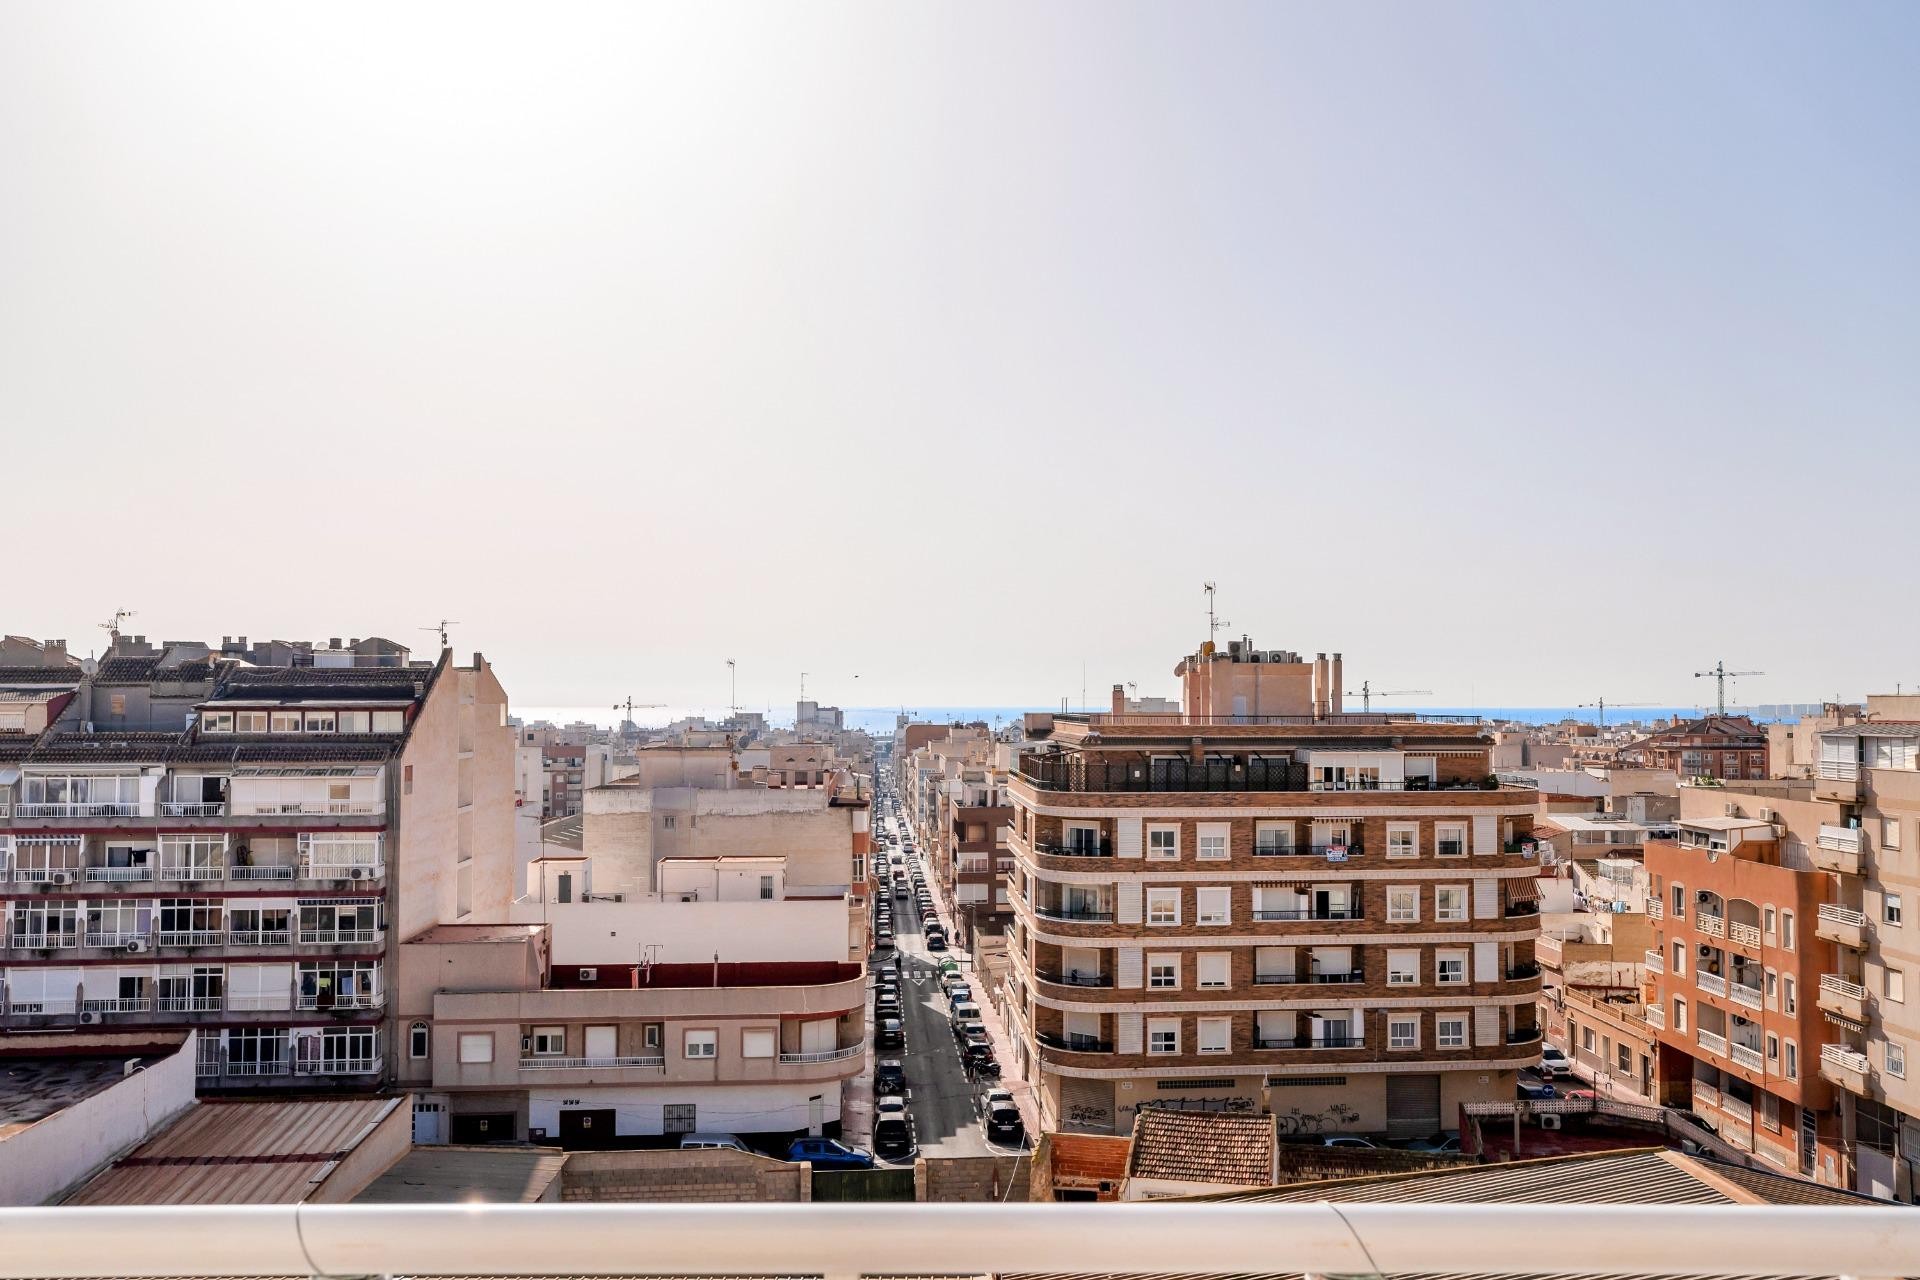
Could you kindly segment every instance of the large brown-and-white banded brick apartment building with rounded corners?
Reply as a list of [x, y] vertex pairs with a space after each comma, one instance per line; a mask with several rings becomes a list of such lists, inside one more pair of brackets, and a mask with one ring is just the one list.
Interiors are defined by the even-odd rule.
[[1008, 1013], [1048, 1128], [1271, 1109], [1430, 1134], [1540, 1057], [1534, 794], [1476, 722], [1346, 714], [1336, 660], [1212, 645], [1196, 714], [1020, 758]]

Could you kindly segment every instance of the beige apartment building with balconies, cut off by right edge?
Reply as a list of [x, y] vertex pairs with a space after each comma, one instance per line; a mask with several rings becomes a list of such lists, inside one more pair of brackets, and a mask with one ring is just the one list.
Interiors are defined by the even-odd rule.
[[[1824, 729], [1814, 794], [1832, 806], [1812, 860], [1830, 873], [1816, 931], [1834, 946], [1822, 1004], [1836, 1032], [1820, 1075], [1839, 1092], [1855, 1190], [1914, 1199], [1920, 1161], [1920, 699], [1870, 697]], [[1908, 990], [1914, 994], [1908, 998]]]

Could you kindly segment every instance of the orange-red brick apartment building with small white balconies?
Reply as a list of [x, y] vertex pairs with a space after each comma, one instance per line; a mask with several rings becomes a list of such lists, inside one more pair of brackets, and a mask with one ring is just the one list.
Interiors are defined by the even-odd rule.
[[1836, 1019], [1864, 1013], [1818, 923], [1826, 860], [1797, 835], [1826, 816], [1807, 783], [1680, 789], [1676, 833], [1645, 844], [1645, 1019], [1663, 1103], [1776, 1169], [1851, 1186], [1832, 1048]]

